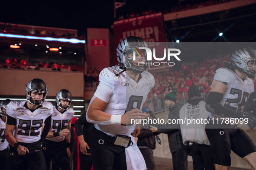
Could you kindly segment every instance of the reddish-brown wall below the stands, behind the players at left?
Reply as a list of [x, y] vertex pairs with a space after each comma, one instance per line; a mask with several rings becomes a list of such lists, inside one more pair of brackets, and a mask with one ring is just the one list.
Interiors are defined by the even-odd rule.
[[48, 87], [48, 96], [55, 96], [61, 89], [68, 89], [73, 97], [84, 97], [83, 72], [57, 72], [21, 69], [0, 69], [0, 95], [25, 95], [32, 79], [42, 79]]

